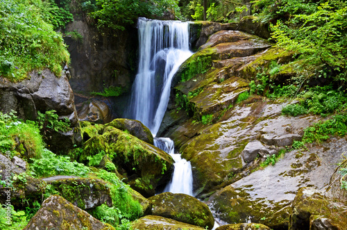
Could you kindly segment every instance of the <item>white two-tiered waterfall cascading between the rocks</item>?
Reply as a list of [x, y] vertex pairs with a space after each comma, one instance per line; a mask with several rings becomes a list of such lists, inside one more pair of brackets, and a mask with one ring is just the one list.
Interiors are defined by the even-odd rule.
[[[178, 67], [192, 56], [189, 51], [189, 24], [139, 18], [139, 69], [130, 102], [130, 117], [158, 133], [169, 102], [171, 80]], [[174, 158], [175, 170], [166, 192], [192, 195], [192, 167], [174, 154], [174, 142], [155, 138], [155, 146]]]

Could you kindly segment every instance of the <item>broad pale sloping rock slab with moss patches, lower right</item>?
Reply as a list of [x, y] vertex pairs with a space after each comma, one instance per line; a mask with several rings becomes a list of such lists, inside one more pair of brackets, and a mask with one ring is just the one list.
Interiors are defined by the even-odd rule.
[[317, 190], [298, 189], [328, 185], [335, 163], [346, 149], [344, 139], [333, 139], [310, 151], [289, 151], [276, 165], [253, 172], [214, 193], [210, 208], [228, 223], [251, 220], [271, 229], [309, 229], [312, 215], [326, 218], [328, 202], [321, 199], [323, 195]]

